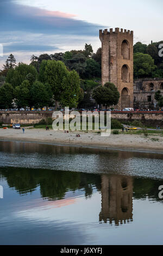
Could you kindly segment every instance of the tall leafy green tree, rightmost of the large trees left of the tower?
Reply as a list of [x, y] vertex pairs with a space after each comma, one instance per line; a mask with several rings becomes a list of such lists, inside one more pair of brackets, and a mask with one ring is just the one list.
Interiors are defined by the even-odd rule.
[[75, 70], [67, 72], [62, 81], [61, 104], [64, 107], [77, 107], [80, 95], [80, 79]]

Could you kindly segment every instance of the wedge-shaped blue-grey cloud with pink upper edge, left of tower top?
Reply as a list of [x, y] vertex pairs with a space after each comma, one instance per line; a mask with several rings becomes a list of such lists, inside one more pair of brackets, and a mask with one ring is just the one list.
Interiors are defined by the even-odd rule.
[[35, 33], [59, 33], [97, 35], [98, 25], [72, 19], [75, 15], [60, 11], [47, 11], [16, 4], [11, 0], [0, 3], [1, 31], [27, 31]]

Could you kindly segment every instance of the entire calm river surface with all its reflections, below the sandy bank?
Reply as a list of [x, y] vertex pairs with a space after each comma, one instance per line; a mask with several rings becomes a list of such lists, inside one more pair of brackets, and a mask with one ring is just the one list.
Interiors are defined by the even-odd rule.
[[0, 142], [1, 245], [162, 245], [163, 154]]

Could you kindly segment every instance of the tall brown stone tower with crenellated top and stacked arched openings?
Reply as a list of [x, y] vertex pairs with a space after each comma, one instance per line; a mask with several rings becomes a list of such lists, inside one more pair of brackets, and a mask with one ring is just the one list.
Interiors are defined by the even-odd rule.
[[116, 108], [133, 107], [133, 31], [99, 31], [102, 42], [102, 84], [114, 83], [120, 93]]

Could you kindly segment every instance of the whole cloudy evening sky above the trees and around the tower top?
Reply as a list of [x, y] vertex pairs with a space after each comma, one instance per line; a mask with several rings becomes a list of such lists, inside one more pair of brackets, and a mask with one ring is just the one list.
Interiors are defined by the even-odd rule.
[[[134, 42], [163, 40], [162, 0], [0, 0], [0, 68], [10, 53], [30, 63], [41, 53], [101, 47], [99, 29], [134, 31]], [[1, 48], [3, 45], [3, 57]]]

